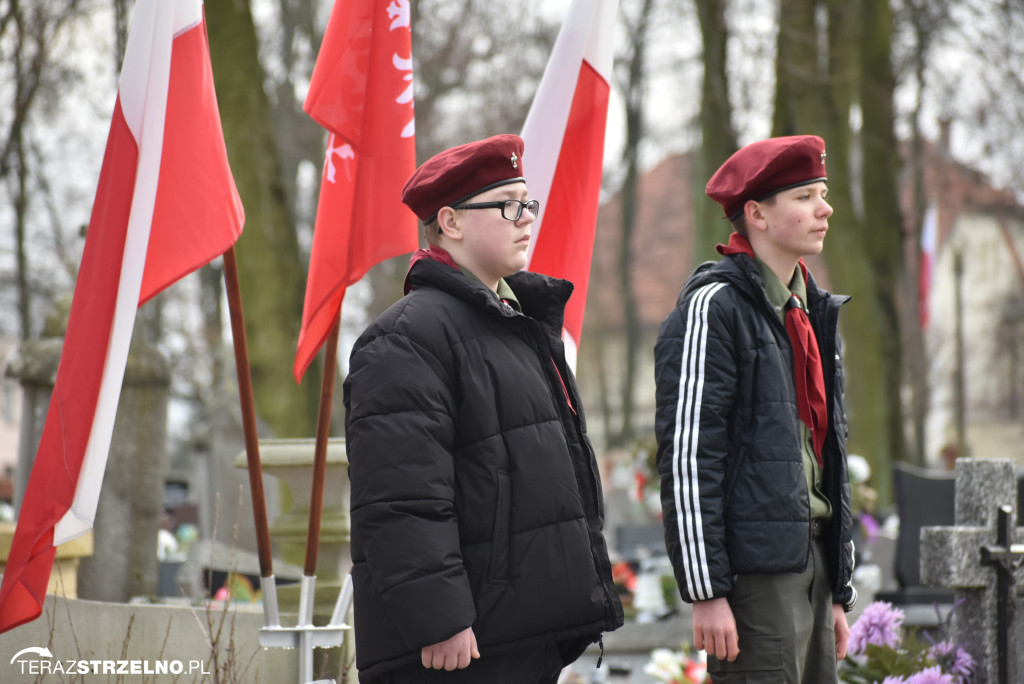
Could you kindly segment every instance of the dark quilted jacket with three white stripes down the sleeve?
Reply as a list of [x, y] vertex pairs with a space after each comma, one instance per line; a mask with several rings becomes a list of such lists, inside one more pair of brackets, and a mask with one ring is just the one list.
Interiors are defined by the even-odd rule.
[[[828, 409], [823, 489], [833, 600], [856, 599], [847, 423], [837, 323], [849, 298], [807, 279]], [[666, 542], [683, 598], [728, 596], [733, 575], [800, 572], [810, 553], [810, 500], [785, 327], [746, 255], [700, 266], [654, 350], [657, 463]]]

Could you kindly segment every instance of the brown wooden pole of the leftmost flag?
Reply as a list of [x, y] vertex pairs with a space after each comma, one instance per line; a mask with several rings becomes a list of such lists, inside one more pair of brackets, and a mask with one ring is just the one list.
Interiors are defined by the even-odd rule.
[[[224, 252], [224, 285], [227, 290], [227, 309], [231, 317], [231, 337], [234, 339], [234, 366], [239, 374], [239, 398], [242, 402], [242, 426], [246, 438], [246, 460], [249, 467], [249, 486], [253, 499], [253, 521], [256, 525], [259, 572], [261, 578], [270, 579], [273, 578], [270, 527], [266, 519], [266, 498], [263, 494], [263, 468], [259, 458], [259, 435], [256, 431], [253, 382], [249, 371], [249, 348], [246, 346], [246, 324], [242, 311], [242, 292], [239, 287], [239, 264], [234, 257], [233, 245]], [[264, 593], [265, 599], [266, 594]]]

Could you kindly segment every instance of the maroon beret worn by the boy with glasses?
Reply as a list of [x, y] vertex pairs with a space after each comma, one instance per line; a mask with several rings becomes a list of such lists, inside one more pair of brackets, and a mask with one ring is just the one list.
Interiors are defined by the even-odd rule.
[[441, 207], [454, 207], [475, 195], [507, 183], [525, 182], [522, 138], [496, 135], [431, 157], [401, 190], [401, 201], [429, 223]]

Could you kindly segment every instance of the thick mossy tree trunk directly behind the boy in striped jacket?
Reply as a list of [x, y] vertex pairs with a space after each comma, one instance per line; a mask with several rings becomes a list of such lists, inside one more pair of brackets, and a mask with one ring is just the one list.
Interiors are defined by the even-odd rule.
[[[871, 34], [879, 26], [891, 28], [891, 18], [881, 7], [866, 6], [872, 4], [873, 0], [782, 2], [785, 20], [778, 35], [773, 132], [813, 133], [826, 143], [828, 201], [835, 214], [824, 258], [834, 289], [852, 296], [841, 316], [850, 452], [870, 463], [872, 483], [884, 504], [891, 500], [891, 463], [902, 456], [899, 336], [893, 299], [901, 253], [899, 213], [892, 209], [895, 172], [890, 174], [878, 159], [883, 141], [888, 141], [890, 156], [895, 148], [892, 71], [888, 61], [880, 66], [878, 57], [882, 51], [888, 60], [891, 32], [881, 37]], [[862, 46], [861, 26], [877, 43]], [[870, 71], [862, 71], [864, 67]], [[870, 113], [864, 112], [864, 155], [859, 156], [850, 114], [854, 102], [868, 94], [885, 103], [869, 102]], [[865, 178], [869, 173], [884, 177]], [[862, 200], [872, 194], [884, 197]], [[891, 247], [893, 236], [895, 248]]]

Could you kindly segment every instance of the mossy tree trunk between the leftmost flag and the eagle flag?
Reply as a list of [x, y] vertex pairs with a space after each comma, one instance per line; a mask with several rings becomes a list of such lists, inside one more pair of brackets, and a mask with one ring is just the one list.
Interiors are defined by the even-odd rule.
[[310, 436], [318, 374], [310, 372], [301, 386], [292, 378], [305, 272], [289, 217], [256, 29], [246, 0], [207, 3], [206, 20], [227, 157], [246, 208], [236, 250], [256, 410], [276, 436]]

